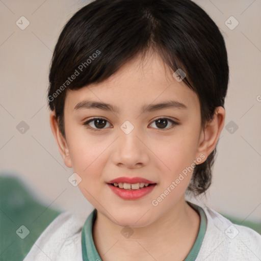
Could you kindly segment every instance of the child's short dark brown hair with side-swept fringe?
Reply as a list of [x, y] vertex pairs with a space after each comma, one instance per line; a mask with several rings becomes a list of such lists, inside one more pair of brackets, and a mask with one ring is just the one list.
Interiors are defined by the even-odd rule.
[[[66, 90], [100, 83], [149, 48], [183, 80], [200, 101], [201, 123], [224, 107], [229, 68], [223, 36], [215, 22], [190, 0], [96, 0], [63, 28], [49, 72], [48, 105], [62, 135]], [[72, 76], [75, 75], [75, 76]], [[73, 77], [73, 79], [72, 79]], [[216, 148], [195, 166], [188, 191], [205, 192]]]

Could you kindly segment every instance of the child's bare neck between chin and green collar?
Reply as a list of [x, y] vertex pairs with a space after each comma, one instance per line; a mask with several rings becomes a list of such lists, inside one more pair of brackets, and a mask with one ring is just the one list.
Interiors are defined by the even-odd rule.
[[155, 222], [124, 228], [131, 237], [124, 237], [122, 226], [97, 212], [93, 239], [104, 261], [135, 260], [137, 256], [142, 260], [184, 260], [197, 238], [199, 225], [198, 213], [182, 198]]

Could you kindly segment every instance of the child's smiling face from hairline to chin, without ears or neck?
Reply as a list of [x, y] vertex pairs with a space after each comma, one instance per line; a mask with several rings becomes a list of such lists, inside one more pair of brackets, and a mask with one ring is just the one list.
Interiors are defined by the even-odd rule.
[[[119, 112], [74, 109], [85, 100], [109, 103]], [[143, 106], [167, 101], [183, 103], [186, 108], [141, 110]], [[92, 121], [89, 126], [94, 131], [84, 125], [92, 117], [106, 122], [98, 122], [99, 125]], [[157, 123], [158, 118], [179, 124], [165, 123], [164, 119]], [[203, 160], [200, 146], [204, 135], [198, 97], [183, 82], [177, 82], [171, 72], [165, 72], [158, 56], [152, 55], [143, 64], [133, 60], [106, 82], [67, 91], [64, 122], [68, 146], [65, 164], [81, 176], [78, 186], [86, 199], [121, 226], [149, 225], [184, 204], [191, 167], [196, 160], [202, 163], [207, 158], [203, 155]], [[122, 131], [123, 127], [129, 131], [131, 126], [134, 128], [130, 133]], [[118, 177], [146, 178], [156, 186], [141, 198], [122, 199], [108, 184]], [[164, 199], [158, 200], [164, 193]]]

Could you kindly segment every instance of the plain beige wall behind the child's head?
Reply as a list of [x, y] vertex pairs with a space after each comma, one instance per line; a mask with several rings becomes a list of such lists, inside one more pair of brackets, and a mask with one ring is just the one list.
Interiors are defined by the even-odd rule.
[[[217, 23], [226, 41], [230, 83], [226, 122], [218, 144], [214, 179], [207, 198], [217, 211], [247, 220], [261, 220], [261, 1], [195, 1]], [[0, 1], [1, 140], [0, 171], [18, 175], [40, 200], [61, 210], [91, 210], [73, 173], [62, 161], [49, 127], [46, 94], [52, 50], [63, 25], [88, 1]], [[21, 30], [16, 21], [30, 25]], [[230, 30], [233, 16], [239, 25]], [[232, 23], [233, 24], [233, 23]], [[259, 95], [259, 96], [258, 96]], [[259, 100], [259, 101], [258, 101]], [[25, 121], [24, 134], [16, 126]]]

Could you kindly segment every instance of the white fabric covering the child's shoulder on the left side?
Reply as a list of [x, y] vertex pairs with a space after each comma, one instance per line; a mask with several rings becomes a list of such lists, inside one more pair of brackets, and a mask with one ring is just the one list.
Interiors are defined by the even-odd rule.
[[82, 261], [81, 235], [85, 218], [72, 212], [60, 214], [42, 232], [24, 261]]

